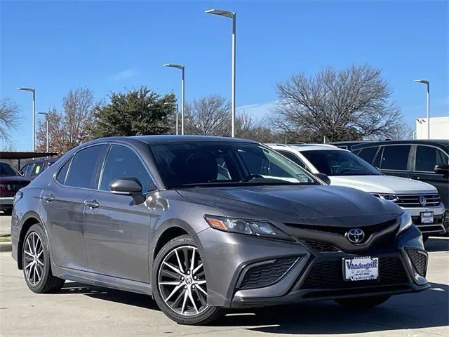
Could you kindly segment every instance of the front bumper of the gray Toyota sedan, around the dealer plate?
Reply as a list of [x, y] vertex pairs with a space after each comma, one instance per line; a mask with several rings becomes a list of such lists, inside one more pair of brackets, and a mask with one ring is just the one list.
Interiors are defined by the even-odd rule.
[[[198, 239], [207, 261], [208, 303], [213, 306], [253, 308], [306, 300], [395, 295], [422, 291], [430, 286], [425, 279], [427, 253], [422, 245], [421, 233], [415, 226], [401, 234], [394, 246], [381, 245], [358, 254], [317, 251], [300, 243], [260, 239], [213, 229], [200, 232]], [[410, 259], [408, 249], [419, 251], [425, 256], [426, 264], [421, 265], [420, 269], [422, 275], [417, 272], [417, 263]], [[342, 281], [341, 261], [343, 257], [349, 256], [378, 256], [379, 280], [361, 283]], [[292, 261], [291, 266], [282, 274], [282, 264], [276, 264], [276, 260], [287, 261], [288, 258]], [[382, 260], [386, 263], [383, 270]], [[398, 270], [394, 270], [389, 261], [395, 261], [394, 266]], [[269, 269], [270, 263], [272, 270]], [[264, 264], [267, 265], [265, 270]], [[253, 275], [259, 277], [264, 286], [256, 287], [257, 284], [251, 283], [254, 278], [245, 276], [252, 267], [255, 267]], [[271, 275], [276, 272], [278, 276], [282, 274], [281, 277], [270, 282]], [[243, 279], [247, 281], [246, 286], [242, 286]]]

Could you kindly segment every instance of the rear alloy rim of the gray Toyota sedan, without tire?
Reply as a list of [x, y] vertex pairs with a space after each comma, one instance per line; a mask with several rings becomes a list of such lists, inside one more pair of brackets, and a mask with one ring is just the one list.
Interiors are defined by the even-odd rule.
[[23, 250], [25, 260], [25, 275], [32, 286], [41, 282], [43, 276], [43, 245], [41, 237], [36, 232], [29, 233]]

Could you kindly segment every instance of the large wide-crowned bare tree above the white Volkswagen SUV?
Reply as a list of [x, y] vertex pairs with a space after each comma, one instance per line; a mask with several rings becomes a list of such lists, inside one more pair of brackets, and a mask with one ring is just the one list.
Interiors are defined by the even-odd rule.
[[389, 137], [403, 125], [387, 81], [369, 65], [295, 74], [276, 90], [274, 126], [303, 141]]

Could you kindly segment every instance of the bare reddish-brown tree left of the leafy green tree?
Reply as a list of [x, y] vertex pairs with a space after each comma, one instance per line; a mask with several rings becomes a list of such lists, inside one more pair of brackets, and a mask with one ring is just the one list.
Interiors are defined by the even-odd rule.
[[[93, 126], [93, 93], [88, 88], [69, 91], [62, 99], [62, 113], [48, 111], [48, 143], [50, 151], [60, 154], [91, 139]], [[46, 123], [40, 122], [36, 138], [39, 151], [46, 150]]]

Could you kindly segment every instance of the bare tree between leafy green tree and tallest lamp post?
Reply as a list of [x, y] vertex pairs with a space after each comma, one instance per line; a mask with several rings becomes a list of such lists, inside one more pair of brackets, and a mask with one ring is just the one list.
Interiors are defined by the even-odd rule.
[[186, 105], [185, 133], [229, 136], [229, 102], [219, 95], [208, 95]]

